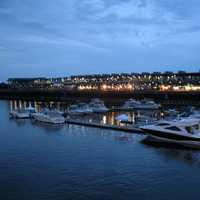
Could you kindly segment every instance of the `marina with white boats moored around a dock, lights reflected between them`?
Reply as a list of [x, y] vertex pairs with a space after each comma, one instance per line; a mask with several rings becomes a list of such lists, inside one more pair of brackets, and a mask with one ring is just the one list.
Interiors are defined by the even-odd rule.
[[[67, 123], [105, 130], [142, 133], [149, 135], [154, 140], [181, 144], [191, 148], [200, 147], [198, 145], [198, 140], [200, 140], [198, 138], [198, 134], [200, 134], [200, 111], [198, 109], [188, 106], [182, 111], [177, 109], [161, 111], [159, 110], [161, 105], [151, 100], [145, 100], [145, 102], [150, 103], [145, 103], [145, 106], [141, 109], [143, 102], [129, 99], [122, 107], [119, 107], [117, 112], [116, 108], [114, 109], [115, 111], [112, 108], [107, 108], [100, 99], [91, 100], [89, 103], [79, 102], [68, 105], [62, 111], [56, 107], [56, 102], [51, 102], [48, 107], [44, 107], [44, 104], [39, 104], [38, 102], [10, 101], [10, 113], [13, 113], [11, 115], [13, 118], [18, 119], [31, 118], [34, 121], [54, 125]], [[29, 104], [28, 108], [26, 107], [27, 104]], [[36, 106], [35, 108], [31, 106], [33, 104]], [[61, 104], [59, 105], [61, 106]], [[139, 107], [137, 107], [138, 105]], [[24, 117], [27, 113], [25, 112], [24, 114], [24, 110], [32, 113], [28, 112], [28, 116]], [[22, 117], [19, 117], [20, 114]], [[194, 129], [194, 127], [196, 128]], [[172, 140], [173, 138], [174, 140]], [[181, 138], [183, 138], [183, 141]]]

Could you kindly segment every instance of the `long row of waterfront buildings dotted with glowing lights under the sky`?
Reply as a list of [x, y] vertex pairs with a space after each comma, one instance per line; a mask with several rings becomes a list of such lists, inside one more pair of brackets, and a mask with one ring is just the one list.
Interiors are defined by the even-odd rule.
[[200, 91], [200, 72], [94, 74], [64, 78], [12, 78], [11, 88], [102, 91]]

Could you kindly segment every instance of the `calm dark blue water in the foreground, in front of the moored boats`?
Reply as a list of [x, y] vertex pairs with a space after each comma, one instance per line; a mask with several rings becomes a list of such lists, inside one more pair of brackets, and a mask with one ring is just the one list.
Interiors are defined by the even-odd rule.
[[198, 199], [200, 152], [143, 136], [11, 120], [0, 101], [0, 199]]

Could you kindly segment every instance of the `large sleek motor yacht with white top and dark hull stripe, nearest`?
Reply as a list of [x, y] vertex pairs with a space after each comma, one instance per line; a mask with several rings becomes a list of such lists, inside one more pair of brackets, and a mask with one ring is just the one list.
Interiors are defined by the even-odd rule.
[[200, 119], [159, 121], [154, 125], [141, 126], [154, 141], [174, 143], [200, 149]]

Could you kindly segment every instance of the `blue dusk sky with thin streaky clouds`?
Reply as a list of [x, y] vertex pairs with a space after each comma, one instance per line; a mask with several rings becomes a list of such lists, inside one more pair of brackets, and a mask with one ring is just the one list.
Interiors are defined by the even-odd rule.
[[0, 0], [0, 80], [199, 71], [199, 0]]

